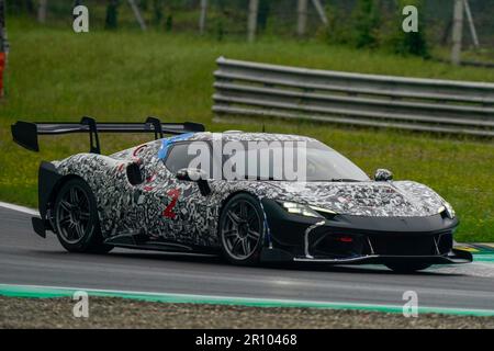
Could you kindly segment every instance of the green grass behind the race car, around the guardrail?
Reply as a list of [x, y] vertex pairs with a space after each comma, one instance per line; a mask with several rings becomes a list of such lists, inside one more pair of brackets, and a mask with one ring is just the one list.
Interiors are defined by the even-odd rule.
[[[249, 45], [155, 32], [75, 34], [69, 26], [44, 29], [23, 19], [9, 19], [8, 24], [11, 54], [7, 97], [0, 103], [0, 200], [29, 206], [36, 205], [38, 161], [86, 151], [88, 141], [87, 136], [42, 138], [42, 152], [29, 152], [11, 141], [9, 125], [15, 120], [77, 121], [91, 115], [99, 121], [143, 121], [153, 114], [202, 122], [212, 131], [259, 131], [260, 123], [239, 118], [212, 123], [212, 72], [221, 55], [322, 69], [494, 81], [494, 70], [452, 68], [317, 42], [265, 38]], [[370, 174], [385, 167], [396, 179], [430, 185], [457, 210], [462, 222], [459, 240], [494, 240], [492, 143], [329, 124], [266, 123], [268, 132], [314, 136]], [[141, 140], [142, 136], [103, 136], [103, 152]]]

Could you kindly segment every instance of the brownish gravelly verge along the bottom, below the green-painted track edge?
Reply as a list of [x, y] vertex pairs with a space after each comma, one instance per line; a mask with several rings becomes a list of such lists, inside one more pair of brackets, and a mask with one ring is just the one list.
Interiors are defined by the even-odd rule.
[[0, 328], [494, 328], [494, 317], [360, 310], [164, 304], [91, 297], [89, 317], [72, 315], [70, 298], [0, 296]]

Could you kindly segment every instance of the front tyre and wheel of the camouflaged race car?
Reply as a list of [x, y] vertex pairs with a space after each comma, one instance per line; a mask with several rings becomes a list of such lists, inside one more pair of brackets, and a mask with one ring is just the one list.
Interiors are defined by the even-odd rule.
[[234, 264], [259, 263], [265, 239], [265, 216], [259, 200], [240, 193], [222, 210], [218, 235], [224, 257]]

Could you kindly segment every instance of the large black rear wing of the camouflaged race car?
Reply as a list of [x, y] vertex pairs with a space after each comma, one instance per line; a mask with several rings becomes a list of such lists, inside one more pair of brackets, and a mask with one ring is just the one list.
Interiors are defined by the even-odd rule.
[[13, 140], [32, 151], [40, 151], [38, 135], [60, 135], [88, 133], [90, 152], [101, 154], [98, 133], [154, 133], [155, 139], [164, 134], [184, 134], [204, 132], [204, 125], [192, 122], [161, 123], [157, 117], [147, 117], [144, 123], [97, 123], [94, 118], [82, 117], [79, 123], [31, 123], [18, 121], [11, 126]]

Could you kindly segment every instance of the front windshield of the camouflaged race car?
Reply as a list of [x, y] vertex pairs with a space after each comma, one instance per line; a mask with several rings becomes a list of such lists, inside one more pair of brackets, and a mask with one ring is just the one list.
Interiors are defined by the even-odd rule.
[[[368, 181], [346, 157], [319, 141], [242, 141], [223, 154], [224, 179], [279, 181]], [[224, 150], [225, 151], [225, 150]]]

